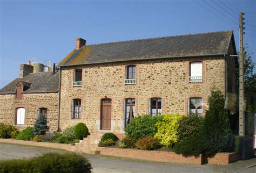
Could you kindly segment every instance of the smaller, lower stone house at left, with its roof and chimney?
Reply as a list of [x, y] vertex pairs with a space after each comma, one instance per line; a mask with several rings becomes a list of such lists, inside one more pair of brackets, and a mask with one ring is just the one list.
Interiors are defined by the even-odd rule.
[[59, 72], [33, 73], [33, 66], [21, 64], [19, 77], [0, 90], [0, 123], [18, 128], [33, 126], [37, 115], [48, 119], [50, 132], [58, 127]]

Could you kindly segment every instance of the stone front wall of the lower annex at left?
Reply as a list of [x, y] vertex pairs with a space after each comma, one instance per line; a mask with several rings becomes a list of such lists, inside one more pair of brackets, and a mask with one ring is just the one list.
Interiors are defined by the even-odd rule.
[[15, 94], [0, 95], [0, 123], [15, 125], [16, 110], [25, 108], [25, 124], [16, 125], [18, 128], [33, 126], [38, 109], [48, 109], [47, 120], [50, 132], [57, 131], [58, 124], [58, 93], [25, 93], [22, 99], [15, 99]]

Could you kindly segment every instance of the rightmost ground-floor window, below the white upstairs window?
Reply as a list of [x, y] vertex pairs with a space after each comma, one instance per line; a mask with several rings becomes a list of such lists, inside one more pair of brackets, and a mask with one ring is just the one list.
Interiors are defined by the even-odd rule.
[[189, 98], [188, 100], [188, 114], [197, 114], [202, 116], [203, 114], [203, 99], [200, 97]]

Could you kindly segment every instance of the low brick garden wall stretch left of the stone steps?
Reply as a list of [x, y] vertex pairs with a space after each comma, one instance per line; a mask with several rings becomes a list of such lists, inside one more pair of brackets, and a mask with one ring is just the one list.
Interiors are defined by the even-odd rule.
[[71, 144], [63, 144], [63, 143], [22, 141], [22, 140], [16, 140], [16, 139], [0, 139], [0, 142], [15, 143], [15, 144], [20, 144], [20, 145], [28, 145], [28, 146], [36, 146], [36, 147], [64, 149], [64, 150], [68, 150], [70, 152], [72, 151]]

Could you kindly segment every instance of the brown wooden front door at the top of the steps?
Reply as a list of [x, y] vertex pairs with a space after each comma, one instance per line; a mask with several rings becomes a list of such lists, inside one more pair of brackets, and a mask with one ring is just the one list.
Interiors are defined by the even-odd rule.
[[111, 99], [102, 99], [101, 102], [101, 129], [111, 129]]

